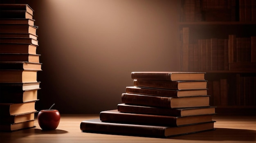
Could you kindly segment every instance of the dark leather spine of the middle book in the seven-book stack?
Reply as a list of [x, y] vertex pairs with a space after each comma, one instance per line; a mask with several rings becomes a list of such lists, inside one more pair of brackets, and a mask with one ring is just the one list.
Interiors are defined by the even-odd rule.
[[121, 95], [121, 100], [122, 103], [133, 105], [171, 108], [171, 97], [157, 97], [123, 93]]

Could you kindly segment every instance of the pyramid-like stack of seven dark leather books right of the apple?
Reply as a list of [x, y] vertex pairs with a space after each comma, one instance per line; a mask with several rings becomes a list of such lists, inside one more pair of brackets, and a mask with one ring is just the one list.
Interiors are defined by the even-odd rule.
[[82, 121], [83, 132], [166, 138], [214, 130], [205, 73], [132, 72], [115, 110]]

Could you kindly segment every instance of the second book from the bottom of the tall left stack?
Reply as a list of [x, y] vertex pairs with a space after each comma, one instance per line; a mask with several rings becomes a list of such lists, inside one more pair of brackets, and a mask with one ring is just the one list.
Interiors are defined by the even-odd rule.
[[1, 124], [14, 124], [14, 123], [21, 123], [25, 121], [31, 121], [35, 119], [35, 112], [28, 112], [24, 114], [16, 114], [10, 116], [4, 116], [0, 118]]

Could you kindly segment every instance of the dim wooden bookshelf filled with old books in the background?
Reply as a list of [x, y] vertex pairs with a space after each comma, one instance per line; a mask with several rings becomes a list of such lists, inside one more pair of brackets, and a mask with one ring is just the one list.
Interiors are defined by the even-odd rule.
[[224, 115], [255, 115], [254, 0], [180, 0], [181, 70], [206, 72], [211, 106]]

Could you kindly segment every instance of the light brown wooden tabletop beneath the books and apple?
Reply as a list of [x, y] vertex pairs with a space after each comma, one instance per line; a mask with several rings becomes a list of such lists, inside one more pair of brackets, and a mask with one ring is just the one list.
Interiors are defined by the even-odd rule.
[[256, 116], [215, 115], [216, 130], [169, 139], [81, 132], [81, 121], [96, 118], [99, 115], [61, 115], [58, 128], [52, 131], [41, 130], [36, 121], [36, 128], [0, 132], [0, 143], [256, 143]]

